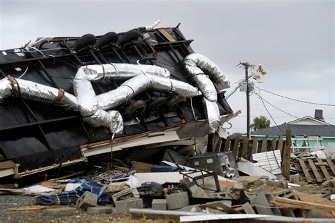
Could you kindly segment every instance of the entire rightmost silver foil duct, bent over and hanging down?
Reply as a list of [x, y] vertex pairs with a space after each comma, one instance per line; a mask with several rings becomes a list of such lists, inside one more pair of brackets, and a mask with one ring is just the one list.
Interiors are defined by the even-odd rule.
[[221, 122], [220, 111], [218, 104], [216, 104], [218, 99], [214, 84], [218, 90], [223, 90], [230, 88], [229, 80], [225, 73], [221, 71], [221, 68], [201, 54], [189, 54], [185, 57], [183, 66], [204, 95], [203, 103], [208, 119], [208, 131], [209, 133], [215, 133]]

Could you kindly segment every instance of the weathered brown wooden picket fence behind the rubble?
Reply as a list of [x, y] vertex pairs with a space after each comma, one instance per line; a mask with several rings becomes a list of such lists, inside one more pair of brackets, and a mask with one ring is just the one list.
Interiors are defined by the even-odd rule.
[[282, 138], [261, 139], [252, 138], [249, 140], [245, 137], [237, 138], [211, 138], [210, 150], [213, 152], [228, 152], [232, 151], [236, 160], [241, 157], [252, 161], [252, 154], [259, 152], [269, 152], [272, 150], [281, 150], [281, 157], [283, 158], [283, 150], [285, 147], [285, 140]]

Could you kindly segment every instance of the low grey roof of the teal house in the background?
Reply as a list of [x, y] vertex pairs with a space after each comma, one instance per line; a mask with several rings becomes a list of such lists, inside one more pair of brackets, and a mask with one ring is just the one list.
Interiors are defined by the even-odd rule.
[[[290, 126], [292, 135], [309, 135], [309, 136], [321, 136], [321, 137], [334, 137], [335, 138], [335, 126], [320, 126], [320, 125], [292, 125], [284, 123], [279, 126], [272, 126], [269, 128], [260, 129], [253, 131], [251, 135], [286, 135], [286, 128]], [[281, 131], [279, 128], [281, 128]]]

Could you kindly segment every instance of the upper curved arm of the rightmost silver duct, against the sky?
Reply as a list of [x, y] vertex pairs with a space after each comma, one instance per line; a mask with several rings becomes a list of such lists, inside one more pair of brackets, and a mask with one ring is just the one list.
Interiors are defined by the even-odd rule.
[[[206, 75], [213, 80], [216, 84], [218, 90], [224, 90], [225, 88], [230, 88], [230, 81], [221, 68], [219, 68], [213, 61], [208, 59], [206, 56], [201, 54], [189, 54], [185, 57], [184, 68], [191, 76], [196, 76], [199, 74], [199, 68], [201, 73], [206, 73]], [[200, 88], [200, 87], [199, 87]]]

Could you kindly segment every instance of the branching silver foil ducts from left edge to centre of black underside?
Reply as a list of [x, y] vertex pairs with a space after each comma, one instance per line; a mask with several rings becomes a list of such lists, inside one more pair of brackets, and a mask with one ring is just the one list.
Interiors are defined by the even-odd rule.
[[[95, 95], [93, 82], [105, 79], [126, 80], [117, 89]], [[175, 92], [184, 97], [199, 95], [197, 88], [179, 80], [171, 80], [165, 68], [151, 65], [103, 64], [82, 66], [74, 78], [74, 95], [64, 90], [29, 80], [11, 77], [0, 80], [0, 100], [11, 95], [59, 104], [67, 109], [79, 110], [83, 120], [91, 126], [105, 126], [114, 133], [122, 133], [123, 121], [118, 111], [109, 111], [152, 88], [162, 92]]]

